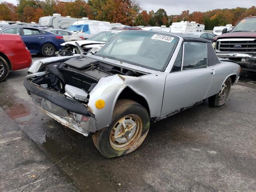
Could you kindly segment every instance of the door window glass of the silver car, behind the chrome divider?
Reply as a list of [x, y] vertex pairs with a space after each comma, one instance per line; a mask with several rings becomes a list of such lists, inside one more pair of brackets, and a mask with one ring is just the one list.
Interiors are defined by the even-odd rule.
[[185, 42], [182, 70], [207, 67], [207, 44], [202, 42]]

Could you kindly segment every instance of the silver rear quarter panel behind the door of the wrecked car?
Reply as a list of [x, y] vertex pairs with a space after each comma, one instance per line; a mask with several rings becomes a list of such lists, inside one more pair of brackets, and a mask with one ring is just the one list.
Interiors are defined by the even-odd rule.
[[228, 77], [236, 75], [237, 80], [238, 76], [240, 75], [240, 66], [234, 62], [222, 61], [220, 64], [211, 66], [209, 68], [214, 69], [215, 74], [212, 78], [212, 83], [205, 98], [208, 98], [220, 92], [222, 84]]

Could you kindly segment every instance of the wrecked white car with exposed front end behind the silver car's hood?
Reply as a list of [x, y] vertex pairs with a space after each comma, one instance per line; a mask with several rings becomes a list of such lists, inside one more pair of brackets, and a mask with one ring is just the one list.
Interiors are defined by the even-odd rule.
[[111, 30], [111, 31], [103, 31], [100, 32], [87, 40], [80, 40], [80, 41], [70, 41], [60, 44], [62, 46], [62, 49], [60, 50], [58, 56], [71, 56], [73, 54], [80, 54], [80, 51], [78, 47], [76, 46], [76, 43], [80, 47], [83, 48], [84, 54], [94, 54], [98, 50], [100, 50], [104, 44], [109, 42], [116, 34], [121, 32], [120, 30]]

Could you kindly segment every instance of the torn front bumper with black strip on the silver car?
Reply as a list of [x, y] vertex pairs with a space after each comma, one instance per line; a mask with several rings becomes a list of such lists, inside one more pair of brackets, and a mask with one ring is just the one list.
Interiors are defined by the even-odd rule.
[[48, 116], [84, 136], [96, 131], [95, 116], [85, 104], [42, 88], [27, 79], [24, 80], [24, 86], [32, 101]]

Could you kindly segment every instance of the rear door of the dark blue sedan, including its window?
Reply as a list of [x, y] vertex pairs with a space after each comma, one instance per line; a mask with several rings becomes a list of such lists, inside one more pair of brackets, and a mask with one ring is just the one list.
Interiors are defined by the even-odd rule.
[[31, 53], [41, 53], [41, 45], [44, 43], [45, 34], [36, 28], [22, 28], [22, 40]]

